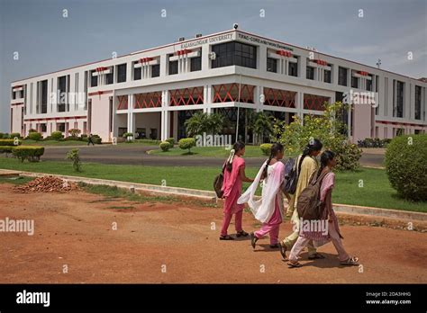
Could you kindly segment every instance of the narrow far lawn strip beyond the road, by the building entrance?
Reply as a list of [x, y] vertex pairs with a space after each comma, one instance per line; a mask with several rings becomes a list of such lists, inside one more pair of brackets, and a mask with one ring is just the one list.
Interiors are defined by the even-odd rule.
[[[230, 155], [230, 149], [225, 147], [195, 147], [191, 148], [191, 154], [188, 154], [188, 150], [181, 148], [171, 148], [168, 151], [162, 151], [161, 149], [150, 150], [149, 154], [157, 156], [215, 156], [215, 157], [227, 157]], [[259, 146], [246, 146], [245, 157], [267, 157], [262, 154]]]

